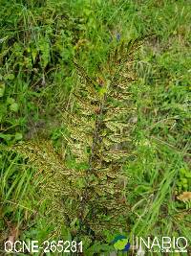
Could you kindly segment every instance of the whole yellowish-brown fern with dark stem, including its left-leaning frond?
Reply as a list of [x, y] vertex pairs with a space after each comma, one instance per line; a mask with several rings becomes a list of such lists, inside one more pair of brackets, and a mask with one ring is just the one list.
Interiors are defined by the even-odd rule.
[[[11, 148], [26, 157], [37, 168], [36, 175], [42, 176], [38, 185], [42, 198], [49, 201], [47, 213], [52, 221], [64, 220], [80, 240], [92, 236], [94, 243], [104, 239], [104, 230], [112, 233], [128, 226], [130, 206], [124, 193], [127, 175], [123, 166], [135, 156], [135, 124], [130, 120], [137, 109], [131, 85], [136, 80], [133, 53], [140, 43], [137, 39], [117, 48], [103, 68], [102, 83], [91, 79], [74, 62], [77, 83], [73, 101], [63, 114], [68, 130], [63, 134], [64, 163], [48, 141]], [[56, 232], [61, 233], [59, 228]]]

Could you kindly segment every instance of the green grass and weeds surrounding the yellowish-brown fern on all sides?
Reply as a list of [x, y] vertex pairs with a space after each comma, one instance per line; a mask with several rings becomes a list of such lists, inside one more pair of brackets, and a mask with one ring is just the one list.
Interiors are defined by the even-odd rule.
[[[125, 233], [184, 236], [191, 244], [190, 207], [177, 199], [191, 191], [188, 1], [2, 0], [0, 6], [0, 140], [8, 146], [44, 137], [64, 151], [62, 112], [74, 86], [72, 59], [102, 78], [99, 66], [118, 41], [154, 34], [135, 63], [137, 158], [125, 169], [131, 204]], [[16, 236], [15, 229], [20, 240], [45, 241], [54, 226], [43, 218], [46, 205], [37, 208], [35, 170], [15, 153], [2, 150], [0, 156], [0, 244]], [[63, 234], [71, 237], [65, 227]], [[109, 244], [112, 236], [99, 243]], [[103, 247], [97, 255], [106, 255]]]

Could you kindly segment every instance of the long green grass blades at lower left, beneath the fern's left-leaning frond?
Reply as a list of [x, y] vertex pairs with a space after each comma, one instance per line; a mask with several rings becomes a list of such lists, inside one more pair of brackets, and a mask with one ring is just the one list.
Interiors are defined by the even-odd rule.
[[3, 243], [12, 230], [19, 232], [19, 226], [26, 228], [26, 223], [36, 216], [34, 205], [38, 195], [34, 187], [38, 178], [33, 180], [32, 168], [18, 154], [1, 151], [0, 162], [0, 247], [3, 253]]

